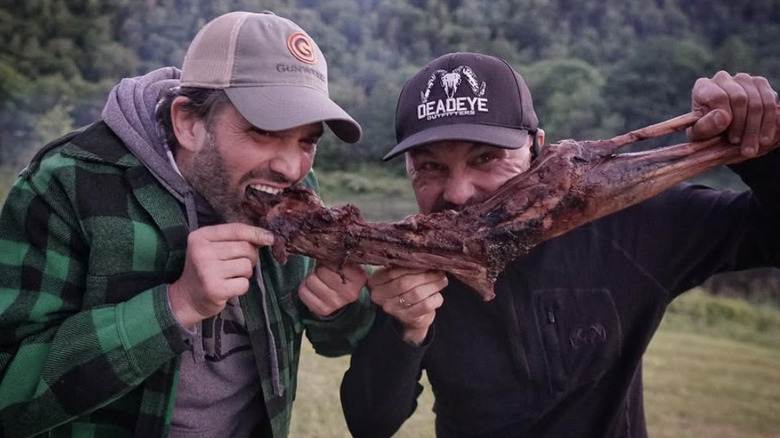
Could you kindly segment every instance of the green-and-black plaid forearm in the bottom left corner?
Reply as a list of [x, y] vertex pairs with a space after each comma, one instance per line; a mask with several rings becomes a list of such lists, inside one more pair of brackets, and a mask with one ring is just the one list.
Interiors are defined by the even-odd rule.
[[61, 321], [18, 326], [19, 334], [40, 331], [15, 341], [17, 349], [3, 367], [3, 432], [45, 431], [99, 408], [183, 351], [164, 298], [160, 287]]

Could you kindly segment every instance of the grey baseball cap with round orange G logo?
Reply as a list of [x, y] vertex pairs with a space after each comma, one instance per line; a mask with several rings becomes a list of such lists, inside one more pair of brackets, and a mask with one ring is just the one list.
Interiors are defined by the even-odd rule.
[[317, 43], [271, 12], [230, 12], [203, 26], [184, 57], [181, 86], [225, 90], [241, 115], [264, 130], [325, 122], [347, 143], [362, 133], [330, 99]]

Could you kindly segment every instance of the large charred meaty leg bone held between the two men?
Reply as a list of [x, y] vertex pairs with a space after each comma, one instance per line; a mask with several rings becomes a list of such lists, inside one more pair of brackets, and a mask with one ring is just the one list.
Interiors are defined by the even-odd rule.
[[305, 254], [335, 267], [345, 263], [427, 268], [451, 273], [485, 300], [506, 264], [539, 243], [651, 198], [717, 166], [745, 159], [717, 138], [638, 153], [628, 144], [680, 131], [691, 112], [610, 140], [563, 140], [547, 146], [527, 171], [485, 202], [417, 214], [395, 223], [366, 222], [354, 205], [324, 208], [302, 187], [281, 197], [251, 193], [247, 207], [275, 236], [274, 256]]

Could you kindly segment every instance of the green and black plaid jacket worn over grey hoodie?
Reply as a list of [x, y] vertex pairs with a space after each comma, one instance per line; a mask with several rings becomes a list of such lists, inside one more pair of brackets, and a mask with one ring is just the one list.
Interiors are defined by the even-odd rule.
[[[316, 187], [313, 175], [307, 182]], [[45, 147], [0, 215], [0, 437], [167, 434], [186, 347], [167, 304], [184, 266], [180, 204], [102, 122]], [[240, 302], [263, 379], [267, 436], [286, 436], [301, 335], [346, 354], [373, 319], [367, 294], [335, 319], [307, 318], [312, 261], [261, 251], [285, 391], [273, 395], [260, 292]]]

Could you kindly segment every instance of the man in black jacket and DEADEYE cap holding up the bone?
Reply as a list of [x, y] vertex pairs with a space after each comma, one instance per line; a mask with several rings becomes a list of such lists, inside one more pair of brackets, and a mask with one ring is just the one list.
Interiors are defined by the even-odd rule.
[[[697, 81], [709, 112], [688, 136], [759, 157], [732, 166], [750, 190], [680, 184], [582, 226], [510, 263], [493, 301], [441, 272], [378, 269], [382, 311], [341, 387], [350, 431], [393, 435], [425, 370], [438, 437], [646, 437], [642, 355], [666, 306], [715, 273], [780, 265], [776, 102], [760, 77]], [[421, 213], [484, 200], [544, 139], [522, 77], [472, 53], [407, 82], [396, 133], [385, 159], [405, 155]]]

